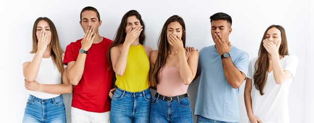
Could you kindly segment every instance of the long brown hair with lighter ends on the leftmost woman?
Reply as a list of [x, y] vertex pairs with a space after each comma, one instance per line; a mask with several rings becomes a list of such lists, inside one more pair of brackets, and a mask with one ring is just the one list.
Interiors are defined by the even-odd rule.
[[57, 66], [58, 70], [60, 73], [63, 72], [63, 64], [62, 64], [62, 57], [63, 57], [63, 53], [64, 51], [62, 50], [60, 43], [59, 43], [59, 38], [58, 38], [58, 33], [57, 33], [57, 29], [54, 26], [54, 24], [52, 23], [52, 21], [47, 18], [47, 17], [39, 17], [35, 20], [34, 26], [33, 26], [33, 49], [32, 51], [30, 51], [30, 53], [36, 53], [38, 50], [38, 39], [36, 36], [36, 31], [37, 31], [37, 24], [41, 21], [41, 20], [45, 20], [49, 27], [50, 27], [50, 31], [51, 31], [51, 42], [50, 42], [50, 48], [51, 48], [51, 58], [53, 61], [54, 66]]

